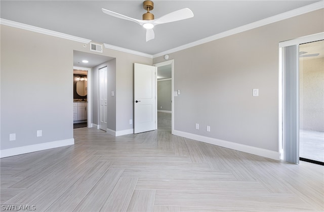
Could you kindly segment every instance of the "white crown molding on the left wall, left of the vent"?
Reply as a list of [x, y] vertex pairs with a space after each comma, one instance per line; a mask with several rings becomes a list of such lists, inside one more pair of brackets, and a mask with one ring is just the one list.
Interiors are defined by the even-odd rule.
[[51, 35], [51, 36], [55, 36], [55, 37], [60, 37], [60, 38], [64, 38], [64, 39], [69, 39], [69, 40], [74, 40], [80, 43], [84, 43], [84, 44], [89, 44], [90, 43], [90, 39], [85, 39], [82, 37], [76, 37], [73, 35], [69, 35], [69, 34], [64, 34], [61, 32], [56, 32], [56, 31], [52, 31], [52, 30], [48, 30], [48, 29], [43, 29], [40, 27], [36, 27], [36, 26], [31, 26], [31, 25], [27, 25], [27, 24], [22, 24], [22, 23], [18, 23], [15, 21], [10, 21], [10, 20], [6, 20], [6, 19], [0, 19], [0, 23], [6, 26], [12, 26], [12, 27], [16, 27], [19, 29], [25, 29], [28, 31], [33, 31], [33, 32], [38, 32], [38, 33], [42, 33], [42, 34], [47, 34], [47, 35]]

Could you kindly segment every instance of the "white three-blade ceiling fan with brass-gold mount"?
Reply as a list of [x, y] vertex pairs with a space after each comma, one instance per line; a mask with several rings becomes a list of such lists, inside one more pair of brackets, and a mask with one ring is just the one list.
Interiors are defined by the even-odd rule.
[[143, 14], [143, 20], [135, 19], [135, 18], [130, 18], [106, 9], [102, 8], [102, 12], [129, 21], [133, 21], [135, 23], [138, 23], [139, 25], [143, 26], [146, 29], [146, 42], [154, 39], [154, 31], [153, 27], [158, 25], [158, 24], [165, 24], [165, 23], [170, 23], [174, 21], [180, 21], [184, 20], [187, 18], [192, 18], [193, 13], [190, 9], [184, 8], [181, 10], [177, 10], [171, 13], [168, 13], [160, 18], [154, 19], [154, 15], [150, 13], [151, 10], [153, 10], [153, 2], [152, 1], [144, 1], [143, 2], [143, 8], [144, 10], [147, 10], [147, 13]]

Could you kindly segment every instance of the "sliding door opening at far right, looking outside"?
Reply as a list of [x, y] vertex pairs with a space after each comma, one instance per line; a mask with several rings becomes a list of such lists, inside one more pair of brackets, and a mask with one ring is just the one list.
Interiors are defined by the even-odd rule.
[[299, 45], [299, 158], [324, 165], [324, 40]]

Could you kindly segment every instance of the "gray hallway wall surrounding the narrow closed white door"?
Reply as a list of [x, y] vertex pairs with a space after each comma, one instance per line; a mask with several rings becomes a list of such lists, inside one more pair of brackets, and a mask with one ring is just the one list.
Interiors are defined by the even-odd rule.
[[111, 96], [111, 92], [116, 91], [116, 59], [107, 61], [92, 68], [93, 73], [93, 123], [99, 124], [99, 69], [107, 66], [107, 106], [108, 106], [108, 129], [116, 130], [116, 98]]

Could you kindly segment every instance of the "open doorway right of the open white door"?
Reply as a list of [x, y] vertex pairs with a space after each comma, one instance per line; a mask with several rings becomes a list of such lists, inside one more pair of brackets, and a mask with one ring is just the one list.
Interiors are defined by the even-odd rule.
[[174, 60], [156, 63], [158, 130], [174, 132]]

